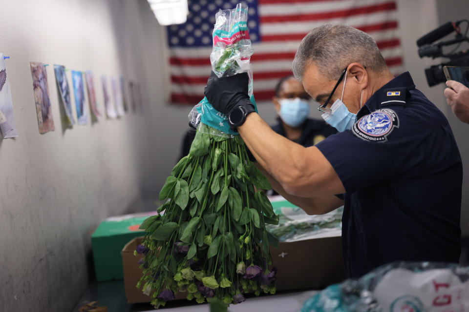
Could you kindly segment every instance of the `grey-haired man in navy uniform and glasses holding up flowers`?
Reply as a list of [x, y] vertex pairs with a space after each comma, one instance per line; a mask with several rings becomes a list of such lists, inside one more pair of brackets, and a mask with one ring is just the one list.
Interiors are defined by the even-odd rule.
[[293, 72], [339, 133], [304, 148], [254, 112], [247, 75], [209, 79], [274, 189], [309, 214], [342, 204], [348, 276], [397, 261], [458, 262], [462, 164], [447, 119], [409, 73], [396, 78], [371, 37], [323, 25], [301, 42]]

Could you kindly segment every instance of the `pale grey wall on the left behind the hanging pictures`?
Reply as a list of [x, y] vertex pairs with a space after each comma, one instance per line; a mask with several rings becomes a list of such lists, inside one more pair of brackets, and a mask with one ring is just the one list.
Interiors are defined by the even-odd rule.
[[[177, 134], [158, 126], [172, 115], [159, 97], [163, 30], [146, 0], [0, 0], [0, 51], [11, 57], [7, 73], [19, 133], [0, 140], [1, 311], [70, 311], [88, 282], [90, 232], [142, 195], [154, 197], [171, 170], [178, 148], [167, 153], [165, 145], [175, 143], [162, 136], [170, 132], [179, 140], [186, 124], [171, 124]], [[50, 64], [56, 131], [44, 135], [30, 61]], [[139, 81], [143, 113], [63, 132], [53, 64], [94, 71], [102, 113], [101, 75]]]

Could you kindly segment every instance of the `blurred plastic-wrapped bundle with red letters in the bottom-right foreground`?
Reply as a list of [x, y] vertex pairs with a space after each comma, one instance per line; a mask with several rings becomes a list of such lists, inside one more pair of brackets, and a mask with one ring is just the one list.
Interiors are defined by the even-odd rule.
[[329, 286], [306, 300], [301, 312], [468, 311], [469, 267], [394, 262], [359, 279]]

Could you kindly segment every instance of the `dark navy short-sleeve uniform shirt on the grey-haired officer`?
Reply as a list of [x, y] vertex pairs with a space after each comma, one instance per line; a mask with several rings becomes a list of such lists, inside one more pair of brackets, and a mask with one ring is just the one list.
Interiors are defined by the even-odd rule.
[[345, 187], [349, 277], [392, 261], [458, 262], [461, 157], [448, 120], [408, 72], [369, 98], [352, 130], [316, 147]]

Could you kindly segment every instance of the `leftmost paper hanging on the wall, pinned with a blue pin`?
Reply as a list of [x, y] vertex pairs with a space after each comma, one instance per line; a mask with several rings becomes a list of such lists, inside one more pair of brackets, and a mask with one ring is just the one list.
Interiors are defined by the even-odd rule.
[[6, 63], [0, 53], [0, 132], [3, 138], [18, 137], [13, 117], [10, 83], [6, 75]]

